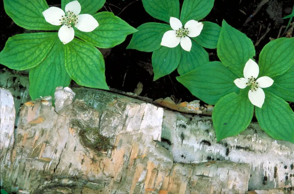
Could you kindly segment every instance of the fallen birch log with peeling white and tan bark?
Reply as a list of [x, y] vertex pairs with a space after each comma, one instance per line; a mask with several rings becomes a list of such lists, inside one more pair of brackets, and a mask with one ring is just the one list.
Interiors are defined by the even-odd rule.
[[[1, 186], [9, 192], [293, 193], [294, 144], [273, 140], [257, 123], [217, 143], [211, 117], [73, 91], [58, 88], [55, 110], [50, 98], [25, 103], [20, 122], [9, 124], [13, 112], [2, 112], [12, 105], [3, 108], [1, 96]], [[15, 130], [14, 145], [13, 135], [2, 140], [4, 123]]]

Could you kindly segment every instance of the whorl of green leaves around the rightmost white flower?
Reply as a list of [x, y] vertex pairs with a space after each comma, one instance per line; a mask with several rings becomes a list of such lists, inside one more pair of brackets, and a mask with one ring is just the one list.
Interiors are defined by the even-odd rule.
[[[217, 141], [220, 141], [243, 131], [253, 117], [249, 88], [238, 88], [234, 80], [244, 77], [245, 63], [255, 55], [255, 50], [245, 34], [225, 21], [217, 49], [223, 64], [214, 61], [200, 65], [187, 70], [189, 72], [177, 80], [205, 103], [215, 104], [213, 126]], [[255, 107], [255, 114], [261, 128], [270, 136], [294, 143], [294, 113], [284, 101], [294, 101], [293, 50], [294, 38], [280, 38], [265, 45], [261, 51], [258, 77], [269, 76], [274, 83], [263, 88], [265, 101], [262, 108]]]

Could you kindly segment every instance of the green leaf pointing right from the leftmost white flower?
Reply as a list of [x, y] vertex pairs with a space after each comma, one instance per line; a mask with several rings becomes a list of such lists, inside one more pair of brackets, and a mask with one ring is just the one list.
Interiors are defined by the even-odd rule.
[[75, 31], [75, 35], [99, 48], [111, 48], [121, 44], [126, 36], [137, 30], [113, 13], [103, 11], [94, 14], [99, 26], [91, 32]]

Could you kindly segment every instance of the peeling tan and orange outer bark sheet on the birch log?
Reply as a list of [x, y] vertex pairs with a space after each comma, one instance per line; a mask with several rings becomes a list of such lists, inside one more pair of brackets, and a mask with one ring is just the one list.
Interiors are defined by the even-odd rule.
[[[105, 100], [113, 95], [105, 91], [99, 95], [103, 93]], [[57, 88], [55, 97], [57, 112], [50, 98], [25, 103], [21, 109], [12, 155], [1, 158], [1, 181], [8, 191], [245, 193], [248, 189], [246, 163], [174, 163], [172, 153], [156, 143], [161, 141], [163, 108], [117, 96], [102, 104], [100, 113], [84, 101], [71, 103], [74, 93], [69, 88]], [[103, 139], [97, 139], [99, 133], [110, 137], [114, 147], [101, 148], [107, 143], [99, 144]]]

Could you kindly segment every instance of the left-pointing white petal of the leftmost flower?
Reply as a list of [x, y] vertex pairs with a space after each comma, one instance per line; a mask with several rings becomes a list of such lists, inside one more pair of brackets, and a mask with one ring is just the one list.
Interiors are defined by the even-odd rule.
[[45, 20], [54, 26], [61, 25], [59, 20], [61, 19], [61, 16], [65, 16], [64, 11], [58, 7], [50, 7], [43, 11], [42, 14]]

